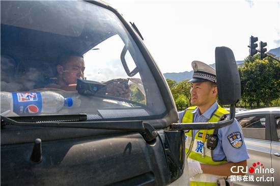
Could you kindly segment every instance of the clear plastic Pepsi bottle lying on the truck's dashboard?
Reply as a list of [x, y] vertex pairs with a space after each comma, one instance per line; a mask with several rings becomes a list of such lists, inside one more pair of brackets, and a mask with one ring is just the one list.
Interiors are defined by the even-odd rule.
[[1, 92], [1, 113], [11, 110], [19, 115], [57, 113], [63, 107], [72, 107], [72, 97], [45, 92], [10, 93]]

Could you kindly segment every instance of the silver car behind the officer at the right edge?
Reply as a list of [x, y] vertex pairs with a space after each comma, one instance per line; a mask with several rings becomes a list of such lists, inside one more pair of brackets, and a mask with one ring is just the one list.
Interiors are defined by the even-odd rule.
[[246, 176], [254, 182], [242, 179], [235, 184], [280, 185], [280, 107], [238, 112], [236, 119], [250, 156]]

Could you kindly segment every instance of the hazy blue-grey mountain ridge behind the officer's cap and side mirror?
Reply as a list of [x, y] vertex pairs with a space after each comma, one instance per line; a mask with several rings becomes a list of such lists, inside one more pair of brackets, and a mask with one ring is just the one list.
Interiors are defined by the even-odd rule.
[[[268, 52], [276, 55], [276, 57], [279, 57], [280, 56], [280, 47], [270, 49]], [[243, 63], [244, 63], [244, 61], [236, 61], [237, 65], [243, 64]], [[213, 68], [216, 67], [215, 63], [211, 64], [210, 66], [213, 67]], [[186, 79], [191, 79], [192, 74], [193, 74], [193, 70], [191, 70], [190, 72], [185, 71], [185, 72], [179, 72], [179, 73], [176, 73], [176, 72], [164, 73], [163, 75], [166, 79], [171, 79], [171, 80], [175, 80], [176, 82], [181, 82], [181, 81], [184, 81]]]

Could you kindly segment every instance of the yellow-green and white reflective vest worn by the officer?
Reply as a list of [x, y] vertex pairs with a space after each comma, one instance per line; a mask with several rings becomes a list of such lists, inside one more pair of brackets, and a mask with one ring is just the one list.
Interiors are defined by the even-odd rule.
[[[196, 107], [190, 107], [186, 110], [184, 117], [182, 119], [183, 123], [192, 123], [193, 122], [193, 114], [191, 113]], [[214, 112], [212, 117], [207, 122], [217, 122], [225, 114], [229, 113], [225, 109], [222, 109], [218, 106], [218, 109]], [[192, 138], [192, 130], [185, 132], [185, 147], [186, 147], [186, 155], [188, 162], [199, 162], [201, 164], [210, 164], [210, 165], [218, 165], [227, 163], [227, 160], [214, 161], [212, 157], [212, 150], [206, 147], [207, 139], [209, 135], [212, 135], [214, 129], [207, 130], [207, 135], [204, 143], [204, 153], [205, 156], [202, 157], [202, 148], [203, 148], [203, 133], [204, 130], [199, 130], [197, 134], [195, 134], [194, 138]], [[216, 182], [220, 178], [226, 178], [223, 176], [217, 176], [213, 174], [197, 174], [189, 178], [190, 185], [216, 185]]]

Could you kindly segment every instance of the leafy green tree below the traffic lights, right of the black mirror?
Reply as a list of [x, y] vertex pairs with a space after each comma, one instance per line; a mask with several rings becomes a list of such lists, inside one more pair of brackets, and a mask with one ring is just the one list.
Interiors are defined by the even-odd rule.
[[280, 96], [280, 65], [273, 59], [258, 58], [258, 55], [245, 58], [243, 68], [238, 70], [241, 98], [260, 107], [261, 102], [269, 105]]

